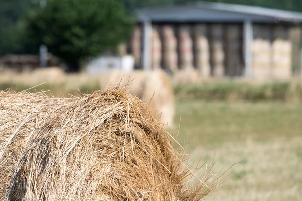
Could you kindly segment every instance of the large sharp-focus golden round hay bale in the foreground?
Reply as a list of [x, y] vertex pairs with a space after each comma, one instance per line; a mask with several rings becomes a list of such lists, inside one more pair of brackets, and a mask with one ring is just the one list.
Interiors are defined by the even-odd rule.
[[0, 100], [1, 200], [200, 200], [217, 183], [186, 189], [190, 171], [168, 133], [119, 89]]

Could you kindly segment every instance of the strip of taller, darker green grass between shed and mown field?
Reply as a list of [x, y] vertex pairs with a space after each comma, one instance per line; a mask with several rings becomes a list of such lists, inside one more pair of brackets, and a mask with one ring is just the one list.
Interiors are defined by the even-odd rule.
[[174, 93], [181, 99], [204, 100], [301, 100], [302, 85], [299, 82], [241, 83], [205, 82], [174, 86]]

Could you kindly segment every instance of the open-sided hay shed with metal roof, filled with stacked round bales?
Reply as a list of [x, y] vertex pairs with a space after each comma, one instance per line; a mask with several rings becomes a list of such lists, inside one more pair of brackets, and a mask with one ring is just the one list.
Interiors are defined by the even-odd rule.
[[143, 69], [195, 68], [204, 77], [287, 79], [292, 76], [289, 30], [302, 13], [197, 2], [137, 10], [129, 41]]

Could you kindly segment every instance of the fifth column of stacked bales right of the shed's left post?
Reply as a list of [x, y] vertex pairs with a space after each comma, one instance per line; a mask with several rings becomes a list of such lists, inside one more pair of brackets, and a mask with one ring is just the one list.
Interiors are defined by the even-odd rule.
[[211, 25], [211, 63], [215, 77], [224, 76], [223, 25]]

